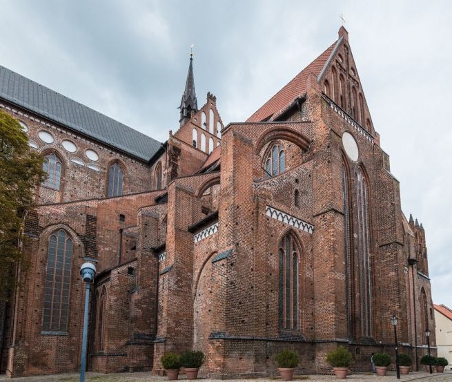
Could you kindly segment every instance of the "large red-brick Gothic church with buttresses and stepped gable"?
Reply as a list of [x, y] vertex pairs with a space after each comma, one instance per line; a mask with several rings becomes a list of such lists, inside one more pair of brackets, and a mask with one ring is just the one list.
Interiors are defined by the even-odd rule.
[[[202, 374], [353, 370], [372, 352], [420, 359], [434, 318], [424, 228], [400, 206], [342, 27], [338, 39], [245, 122], [195, 94], [161, 143], [0, 66], [0, 106], [42, 153], [21, 288], [0, 307], [9, 376], [79, 370], [83, 262], [92, 285], [88, 370], [163, 372], [202, 350]], [[388, 137], [391, 139], [391, 137]], [[417, 362], [414, 363], [417, 367]]]

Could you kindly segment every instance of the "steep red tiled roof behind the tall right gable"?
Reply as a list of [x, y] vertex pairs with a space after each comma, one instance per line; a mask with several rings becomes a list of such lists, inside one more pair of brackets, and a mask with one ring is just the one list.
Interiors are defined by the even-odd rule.
[[[311, 64], [298, 73], [291, 82], [279, 90], [278, 93], [273, 95], [273, 97], [261, 106], [258, 111], [251, 115], [246, 122], [260, 122], [265, 120], [270, 115], [276, 117], [281, 111], [284, 111], [287, 106], [292, 104], [297, 97], [303, 95], [306, 92], [306, 80], [308, 79], [308, 75], [310, 73], [317, 76], [320, 75], [320, 72], [324, 68], [328, 57], [330, 57], [331, 52], [333, 52], [336, 43], [337, 41], [326, 49], [322, 55], [317, 57], [311, 62]], [[273, 120], [273, 117], [271, 117], [270, 120]]]

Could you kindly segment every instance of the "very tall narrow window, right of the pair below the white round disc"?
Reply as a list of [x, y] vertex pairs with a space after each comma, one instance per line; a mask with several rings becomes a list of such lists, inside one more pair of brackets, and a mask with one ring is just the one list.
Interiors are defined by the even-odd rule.
[[358, 244], [360, 252], [360, 294], [362, 335], [372, 335], [371, 260], [369, 231], [369, 187], [362, 169], [357, 170]]

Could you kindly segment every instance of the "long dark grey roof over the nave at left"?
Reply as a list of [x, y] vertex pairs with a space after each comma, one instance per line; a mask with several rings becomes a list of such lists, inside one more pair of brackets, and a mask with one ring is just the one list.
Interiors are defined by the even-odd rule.
[[0, 65], [0, 99], [148, 161], [161, 143]]

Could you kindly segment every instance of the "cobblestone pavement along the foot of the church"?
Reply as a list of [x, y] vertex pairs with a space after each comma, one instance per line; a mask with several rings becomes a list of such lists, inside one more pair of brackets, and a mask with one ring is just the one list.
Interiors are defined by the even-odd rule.
[[[182, 375], [179, 379], [185, 379]], [[336, 381], [335, 376], [331, 375], [308, 375], [295, 376], [295, 381], [308, 382], [333, 382]], [[99, 374], [86, 373], [86, 382], [163, 382], [168, 379], [165, 376], [153, 376], [149, 372], [143, 373], [121, 373], [121, 374]], [[203, 382], [224, 382], [224, 380], [200, 379]], [[387, 376], [376, 376], [372, 373], [355, 373], [347, 376], [347, 381], [353, 382], [396, 382], [394, 372], [389, 372]], [[1, 382], [78, 382], [79, 374], [56, 374], [43, 376], [26, 376], [21, 378], [8, 379], [5, 375], [0, 375]], [[275, 382], [280, 381], [279, 378], [259, 378], [259, 379], [233, 379], [232, 382]], [[402, 375], [400, 382], [419, 381], [419, 382], [452, 382], [452, 372], [449, 370], [444, 374], [428, 374], [426, 372], [413, 372], [409, 375]]]

